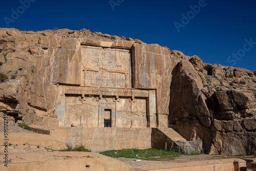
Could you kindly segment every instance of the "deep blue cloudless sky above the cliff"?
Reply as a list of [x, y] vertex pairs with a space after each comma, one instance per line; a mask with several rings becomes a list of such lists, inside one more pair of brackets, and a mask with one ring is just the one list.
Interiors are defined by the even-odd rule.
[[1, 6], [1, 28], [86, 28], [256, 71], [256, 1], [9, 0]]

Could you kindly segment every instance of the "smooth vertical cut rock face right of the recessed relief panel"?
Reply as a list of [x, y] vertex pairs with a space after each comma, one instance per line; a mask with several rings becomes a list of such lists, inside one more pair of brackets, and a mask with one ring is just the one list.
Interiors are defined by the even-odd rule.
[[169, 49], [155, 44], [135, 44], [133, 58], [134, 88], [156, 89], [157, 111], [159, 114], [168, 114], [170, 74], [172, 71]]

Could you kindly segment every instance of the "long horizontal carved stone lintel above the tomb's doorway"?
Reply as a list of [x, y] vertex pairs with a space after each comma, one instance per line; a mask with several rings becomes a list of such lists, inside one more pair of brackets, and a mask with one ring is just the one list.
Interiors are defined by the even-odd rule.
[[148, 97], [147, 90], [67, 86], [65, 94], [120, 97]]

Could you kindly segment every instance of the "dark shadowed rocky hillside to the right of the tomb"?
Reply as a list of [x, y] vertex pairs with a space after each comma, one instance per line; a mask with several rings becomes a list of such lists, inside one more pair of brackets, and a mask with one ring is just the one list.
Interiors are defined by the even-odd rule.
[[256, 73], [171, 53], [181, 59], [172, 72], [170, 125], [206, 153], [255, 154]]

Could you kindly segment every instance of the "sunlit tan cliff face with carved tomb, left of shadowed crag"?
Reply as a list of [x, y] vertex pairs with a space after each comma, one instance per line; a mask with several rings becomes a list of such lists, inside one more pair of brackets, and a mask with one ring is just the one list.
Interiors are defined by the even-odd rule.
[[10, 80], [16, 119], [46, 126], [167, 126], [167, 48], [85, 29], [0, 30], [1, 72], [16, 76]]

